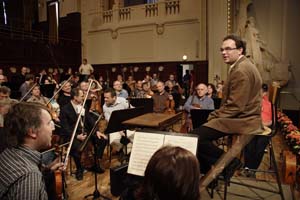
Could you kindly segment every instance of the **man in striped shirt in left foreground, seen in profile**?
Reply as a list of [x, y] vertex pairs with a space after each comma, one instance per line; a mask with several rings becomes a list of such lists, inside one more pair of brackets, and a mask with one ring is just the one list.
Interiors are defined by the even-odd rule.
[[4, 121], [6, 146], [0, 154], [0, 199], [47, 200], [43, 174], [62, 167], [55, 160], [42, 166], [40, 151], [51, 146], [54, 123], [46, 107], [21, 102], [11, 107]]

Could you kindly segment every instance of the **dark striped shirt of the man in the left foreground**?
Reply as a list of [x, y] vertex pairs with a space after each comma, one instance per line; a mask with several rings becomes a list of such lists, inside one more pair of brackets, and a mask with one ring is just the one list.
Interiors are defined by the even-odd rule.
[[37, 151], [6, 148], [0, 154], [0, 199], [48, 199], [40, 163], [41, 154]]

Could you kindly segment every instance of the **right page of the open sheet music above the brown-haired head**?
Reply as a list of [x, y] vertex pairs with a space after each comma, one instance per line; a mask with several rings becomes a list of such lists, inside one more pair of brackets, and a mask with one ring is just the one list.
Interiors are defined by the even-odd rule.
[[180, 135], [165, 135], [164, 145], [172, 145], [172, 146], [180, 146], [194, 155], [197, 152], [197, 137], [187, 137], [187, 136], [180, 136]]

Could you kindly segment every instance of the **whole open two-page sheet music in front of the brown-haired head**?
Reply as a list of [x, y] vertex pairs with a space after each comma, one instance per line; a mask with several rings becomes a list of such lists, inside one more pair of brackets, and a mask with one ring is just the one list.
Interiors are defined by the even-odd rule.
[[127, 172], [129, 174], [144, 176], [151, 156], [163, 145], [180, 146], [196, 155], [197, 144], [197, 137], [136, 132]]

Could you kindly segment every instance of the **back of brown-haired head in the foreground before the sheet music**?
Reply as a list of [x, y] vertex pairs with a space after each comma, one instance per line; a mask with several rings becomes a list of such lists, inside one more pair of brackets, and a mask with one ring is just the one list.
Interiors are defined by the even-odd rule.
[[151, 157], [137, 200], [199, 200], [197, 158], [181, 147], [165, 146]]

